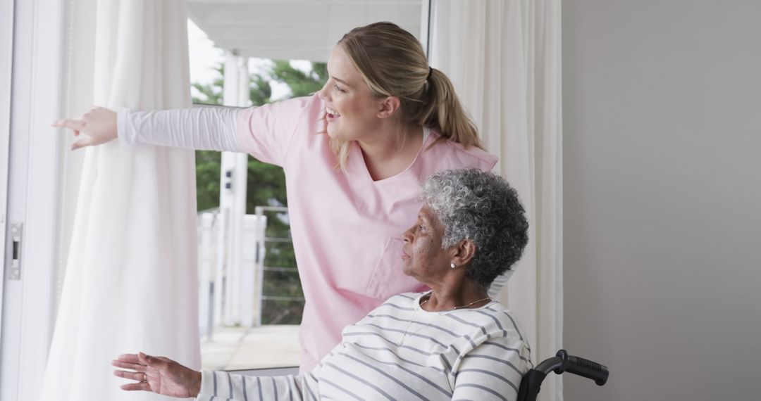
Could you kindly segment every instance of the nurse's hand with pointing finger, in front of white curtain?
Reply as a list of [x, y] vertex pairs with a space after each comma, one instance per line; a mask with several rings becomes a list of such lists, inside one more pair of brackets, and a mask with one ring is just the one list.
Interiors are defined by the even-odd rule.
[[93, 107], [79, 119], [65, 118], [53, 122], [52, 125], [58, 128], [69, 128], [74, 131], [75, 136], [87, 135], [72, 144], [72, 150], [105, 144], [116, 139], [116, 112], [103, 107]]

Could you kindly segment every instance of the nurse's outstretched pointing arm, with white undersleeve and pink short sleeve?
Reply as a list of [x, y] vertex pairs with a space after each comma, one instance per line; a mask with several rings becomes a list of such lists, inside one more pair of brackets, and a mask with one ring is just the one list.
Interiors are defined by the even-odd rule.
[[135, 111], [96, 107], [79, 119], [63, 119], [54, 127], [84, 136], [72, 150], [113, 141], [122, 146], [145, 144], [198, 150], [250, 153], [256, 159], [284, 166], [297, 133], [325, 129], [324, 104], [317, 96], [282, 100], [259, 107], [194, 107]]

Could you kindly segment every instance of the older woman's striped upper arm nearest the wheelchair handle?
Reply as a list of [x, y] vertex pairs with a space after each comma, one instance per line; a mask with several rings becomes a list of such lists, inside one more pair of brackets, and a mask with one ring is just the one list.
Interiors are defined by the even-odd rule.
[[514, 401], [530, 365], [529, 352], [521, 339], [490, 339], [464, 356], [454, 372], [452, 399]]

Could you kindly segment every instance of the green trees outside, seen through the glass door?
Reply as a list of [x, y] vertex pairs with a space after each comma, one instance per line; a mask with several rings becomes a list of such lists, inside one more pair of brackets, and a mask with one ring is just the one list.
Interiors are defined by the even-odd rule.
[[[222, 104], [224, 87], [224, 64], [215, 68], [217, 72], [211, 84], [194, 83], [199, 96], [193, 96], [193, 103], [212, 105]], [[290, 95], [285, 99], [307, 96], [320, 90], [327, 81], [327, 68], [324, 63], [311, 63], [311, 70], [301, 71], [291, 66], [290, 62], [274, 61], [268, 63], [259, 74], [250, 76], [250, 99], [253, 106], [271, 103], [272, 86], [270, 82], [288, 85]], [[282, 99], [280, 99], [282, 100]], [[198, 191], [198, 210], [219, 207], [219, 176], [221, 153], [209, 150], [196, 150], [196, 190]], [[249, 156], [247, 175], [246, 213], [255, 213], [256, 206], [288, 206], [285, 197], [285, 174], [282, 168], [262, 163]], [[266, 236], [271, 238], [290, 238], [290, 224], [285, 213], [267, 213]], [[265, 266], [295, 267], [296, 259], [293, 245], [272, 242], [266, 245]], [[264, 293], [285, 297], [303, 297], [298, 274], [289, 271], [267, 271], [264, 280]], [[263, 323], [298, 324], [301, 322], [303, 302], [268, 301], [264, 308]]]

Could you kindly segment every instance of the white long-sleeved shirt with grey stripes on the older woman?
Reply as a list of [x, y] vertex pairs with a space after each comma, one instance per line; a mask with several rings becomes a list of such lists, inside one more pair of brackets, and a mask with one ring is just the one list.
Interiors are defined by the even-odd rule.
[[202, 371], [197, 399], [516, 399], [532, 364], [511, 314], [498, 302], [429, 312], [419, 306], [423, 295], [395, 295], [345, 327], [342, 342], [306, 374]]

